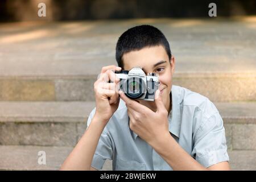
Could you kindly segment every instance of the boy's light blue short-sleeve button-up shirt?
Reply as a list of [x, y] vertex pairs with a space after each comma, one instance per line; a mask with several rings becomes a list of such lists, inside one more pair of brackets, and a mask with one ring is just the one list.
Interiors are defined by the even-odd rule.
[[[225, 129], [220, 113], [208, 98], [180, 86], [172, 86], [169, 131], [180, 146], [204, 167], [228, 161]], [[95, 113], [90, 113], [87, 125]], [[113, 170], [172, 170], [171, 166], [129, 127], [125, 102], [101, 134], [92, 167], [101, 169], [113, 160]]]

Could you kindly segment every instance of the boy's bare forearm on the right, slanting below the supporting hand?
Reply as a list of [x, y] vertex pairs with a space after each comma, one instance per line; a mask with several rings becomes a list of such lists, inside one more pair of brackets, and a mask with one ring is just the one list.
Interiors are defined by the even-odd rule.
[[155, 141], [152, 147], [174, 170], [208, 170], [193, 159], [170, 134]]

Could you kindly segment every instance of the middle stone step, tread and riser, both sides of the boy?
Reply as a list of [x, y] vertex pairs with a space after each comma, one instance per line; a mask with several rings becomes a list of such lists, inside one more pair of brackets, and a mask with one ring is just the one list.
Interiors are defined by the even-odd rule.
[[[0, 144], [75, 146], [94, 102], [0, 102]], [[256, 102], [217, 102], [230, 150], [256, 150]]]

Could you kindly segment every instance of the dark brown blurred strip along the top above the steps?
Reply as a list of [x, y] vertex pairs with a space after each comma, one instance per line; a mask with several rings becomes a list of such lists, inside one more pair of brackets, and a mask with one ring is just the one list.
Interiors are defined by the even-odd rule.
[[2, 0], [2, 21], [38, 20], [34, 14], [38, 3], [46, 3], [47, 20], [123, 19], [123, 18], [191, 18], [205, 17], [206, 7], [214, 2], [218, 16], [254, 15], [255, 0], [178, 1], [178, 0]]

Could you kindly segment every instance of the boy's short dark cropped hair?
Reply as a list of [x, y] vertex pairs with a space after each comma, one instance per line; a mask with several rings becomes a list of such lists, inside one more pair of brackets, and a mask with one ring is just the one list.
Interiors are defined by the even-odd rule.
[[115, 60], [123, 69], [123, 55], [130, 51], [139, 51], [144, 47], [163, 46], [171, 60], [171, 49], [166, 36], [156, 27], [141, 25], [129, 28], [119, 37], [115, 47]]

